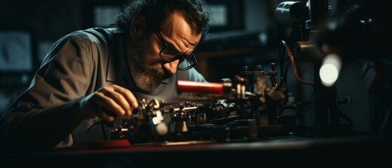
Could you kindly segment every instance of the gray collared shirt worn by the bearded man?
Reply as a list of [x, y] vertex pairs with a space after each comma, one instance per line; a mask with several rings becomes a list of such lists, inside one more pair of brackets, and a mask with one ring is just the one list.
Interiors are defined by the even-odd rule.
[[[1, 118], [1, 137], [18, 136], [15, 129], [29, 113], [85, 97], [100, 87], [116, 84], [131, 90], [138, 100], [156, 98], [170, 101], [178, 95], [177, 80], [205, 81], [196, 69], [189, 69], [177, 71], [151, 92], [137, 92], [130, 77], [121, 36], [116, 28], [91, 28], [74, 31], [57, 41], [29, 88]], [[58, 147], [102, 140], [100, 127], [86, 132], [95, 122], [95, 119], [84, 120]]]

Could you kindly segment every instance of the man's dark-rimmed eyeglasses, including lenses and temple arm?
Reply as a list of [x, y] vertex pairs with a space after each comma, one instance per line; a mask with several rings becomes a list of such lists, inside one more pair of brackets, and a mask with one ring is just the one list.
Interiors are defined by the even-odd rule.
[[180, 55], [180, 52], [168, 46], [168, 43], [163, 39], [161, 32], [156, 31], [156, 36], [158, 36], [159, 40], [163, 43], [163, 48], [159, 52], [159, 57], [165, 62], [173, 62], [176, 59], [180, 59], [180, 62], [177, 65], [177, 69], [180, 71], [187, 71], [197, 64], [194, 52], [192, 52], [191, 55]]

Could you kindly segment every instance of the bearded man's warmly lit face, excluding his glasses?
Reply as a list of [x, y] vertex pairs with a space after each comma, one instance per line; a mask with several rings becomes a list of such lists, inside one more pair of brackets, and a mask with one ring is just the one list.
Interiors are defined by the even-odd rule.
[[[174, 12], [163, 22], [160, 32], [170, 48], [180, 55], [190, 55], [200, 41], [201, 34], [195, 33], [180, 13]], [[127, 48], [128, 64], [137, 87], [145, 91], [154, 90], [161, 80], [170, 78], [180, 62], [165, 62], [159, 57], [163, 43], [155, 33], [140, 36]]]

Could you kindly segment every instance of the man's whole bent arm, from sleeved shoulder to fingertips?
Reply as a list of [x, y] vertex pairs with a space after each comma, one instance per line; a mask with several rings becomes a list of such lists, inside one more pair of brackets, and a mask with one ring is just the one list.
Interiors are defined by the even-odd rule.
[[95, 78], [91, 54], [97, 50], [82, 44], [64, 38], [51, 49], [52, 56], [46, 58], [29, 90], [1, 118], [1, 146], [10, 150], [53, 148], [83, 119], [97, 116], [110, 122], [113, 116], [107, 111], [130, 116], [137, 102], [123, 87], [101, 87], [86, 96]]

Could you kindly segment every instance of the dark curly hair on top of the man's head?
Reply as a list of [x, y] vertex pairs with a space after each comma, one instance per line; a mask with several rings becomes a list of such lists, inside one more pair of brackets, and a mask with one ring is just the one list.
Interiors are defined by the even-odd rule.
[[130, 0], [117, 15], [114, 25], [128, 34], [136, 16], [144, 15], [148, 31], [159, 29], [165, 18], [173, 11], [179, 11], [195, 32], [205, 38], [208, 34], [210, 8], [203, 0]]

